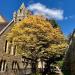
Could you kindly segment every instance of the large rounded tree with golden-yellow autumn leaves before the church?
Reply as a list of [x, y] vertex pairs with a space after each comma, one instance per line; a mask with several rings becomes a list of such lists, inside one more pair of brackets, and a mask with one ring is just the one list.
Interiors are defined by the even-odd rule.
[[41, 16], [29, 16], [15, 24], [7, 39], [16, 43], [19, 54], [35, 61], [34, 72], [38, 58], [62, 55], [67, 46], [60, 28]]

